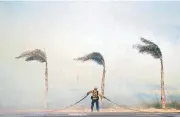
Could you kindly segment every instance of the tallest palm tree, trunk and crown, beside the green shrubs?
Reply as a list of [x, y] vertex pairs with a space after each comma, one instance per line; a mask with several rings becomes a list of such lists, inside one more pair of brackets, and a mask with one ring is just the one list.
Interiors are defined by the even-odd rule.
[[159, 59], [161, 63], [161, 106], [163, 109], [166, 108], [165, 103], [165, 91], [164, 91], [164, 70], [163, 70], [163, 57], [160, 48], [154, 43], [147, 39], [141, 38], [141, 41], [146, 45], [136, 44], [133, 48], [138, 49], [139, 53], [147, 53], [152, 55], [155, 59]]

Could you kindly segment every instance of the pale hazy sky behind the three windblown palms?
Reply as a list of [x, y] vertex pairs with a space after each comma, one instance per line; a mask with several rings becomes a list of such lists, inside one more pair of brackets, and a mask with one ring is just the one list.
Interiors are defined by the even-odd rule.
[[180, 2], [0, 2], [1, 106], [43, 107], [45, 65], [15, 59], [36, 48], [48, 55], [51, 107], [100, 89], [102, 66], [73, 60], [94, 51], [106, 62], [105, 95], [133, 103], [160, 86], [160, 61], [132, 49], [140, 37], [159, 45], [165, 87], [178, 89], [179, 21]]

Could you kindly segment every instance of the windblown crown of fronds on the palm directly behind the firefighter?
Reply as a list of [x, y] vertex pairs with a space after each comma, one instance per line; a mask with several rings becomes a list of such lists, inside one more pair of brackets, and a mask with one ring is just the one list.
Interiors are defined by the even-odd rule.
[[87, 55], [85, 55], [83, 57], [76, 58], [74, 60], [80, 60], [80, 61], [83, 61], [83, 62], [88, 61], [88, 60], [93, 60], [97, 64], [105, 66], [104, 58], [99, 52], [92, 52], [92, 53], [87, 54]]

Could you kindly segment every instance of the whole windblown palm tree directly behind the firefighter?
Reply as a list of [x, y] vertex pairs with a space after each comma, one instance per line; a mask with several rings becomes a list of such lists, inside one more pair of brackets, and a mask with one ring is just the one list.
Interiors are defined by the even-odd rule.
[[[92, 53], [87, 54], [83, 57], [76, 58], [74, 60], [81, 60], [83, 62], [88, 61], [88, 60], [93, 60], [97, 64], [103, 66], [102, 81], [101, 81], [101, 93], [102, 93], [102, 95], [104, 95], [104, 86], [105, 86], [104, 83], [105, 83], [106, 69], [105, 69], [105, 61], [104, 61], [103, 56], [99, 52], [92, 52]], [[101, 98], [101, 100], [102, 100], [102, 98]]]

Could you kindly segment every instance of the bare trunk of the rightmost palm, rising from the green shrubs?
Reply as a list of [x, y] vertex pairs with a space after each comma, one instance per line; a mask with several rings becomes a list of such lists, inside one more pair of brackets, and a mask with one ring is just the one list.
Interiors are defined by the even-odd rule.
[[165, 91], [164, 91], [164, 68], [163, 68], [163, 59], [160, 58], [161, 61], [161, 105], [162, 108], [166, 108], [166, 100], [165, 100]]

